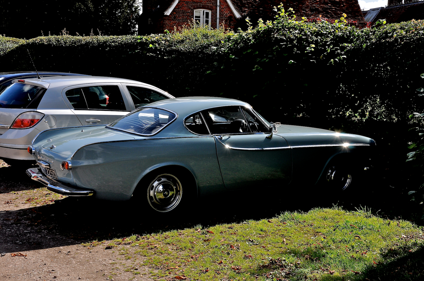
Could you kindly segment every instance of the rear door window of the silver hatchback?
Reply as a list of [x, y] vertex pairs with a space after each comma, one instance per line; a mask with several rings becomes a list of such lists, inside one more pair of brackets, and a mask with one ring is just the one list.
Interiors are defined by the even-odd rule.
[[65, 95], [74, 109], [126, 110], [117, 85], [76, 88]]

